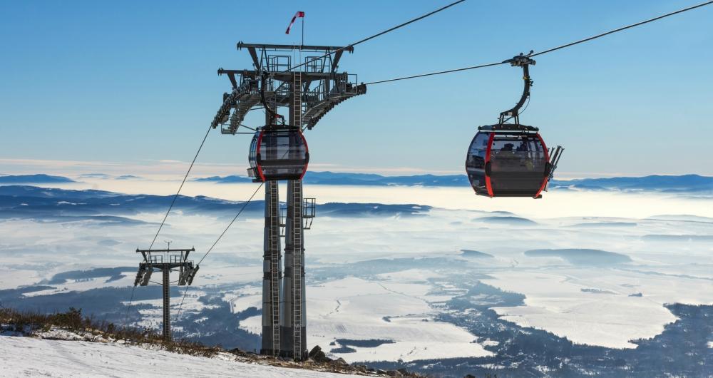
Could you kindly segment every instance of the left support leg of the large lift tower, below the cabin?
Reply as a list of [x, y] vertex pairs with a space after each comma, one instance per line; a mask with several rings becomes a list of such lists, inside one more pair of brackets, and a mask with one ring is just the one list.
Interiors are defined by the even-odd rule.
[[279, 354], [279, 302], [282, 255], [279, 245], [277, 181], [265, 183], [265, 240], [262, 255], [262, 347], [260, 354]]

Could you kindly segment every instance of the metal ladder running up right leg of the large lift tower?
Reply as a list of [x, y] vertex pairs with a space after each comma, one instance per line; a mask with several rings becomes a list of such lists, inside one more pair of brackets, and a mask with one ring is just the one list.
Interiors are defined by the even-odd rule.
[[[292, 122], [302, 128], [302, 73], [292, 81]], [[292, 357], [302, 360], [302, 181], [292, 180]]]

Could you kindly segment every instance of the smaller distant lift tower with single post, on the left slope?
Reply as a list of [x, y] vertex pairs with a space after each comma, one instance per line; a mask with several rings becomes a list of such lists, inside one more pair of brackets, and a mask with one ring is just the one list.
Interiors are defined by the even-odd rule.
[[[139, 250], [137, 248], [136, 252], [143, 255], [143, 261], [138, 265], [134, 286], [163, 285], [163, 339], [170, 341], [170, 285], [178, 283], [179, 286], [185, 286], [193, 283], [195, 273], [198, 272], [198, 265], [193, 265], [193, 261], [188, 260], [188, 253], [195, 252], [195, 248], [190, 250], [172, 250], [169, 248], [164, 250]], [[170, 281], [171, 271], [178, 271], [177, 281]], [[161, 272], [163, 276], [161, 283], [151, 281], [153, 272]]]

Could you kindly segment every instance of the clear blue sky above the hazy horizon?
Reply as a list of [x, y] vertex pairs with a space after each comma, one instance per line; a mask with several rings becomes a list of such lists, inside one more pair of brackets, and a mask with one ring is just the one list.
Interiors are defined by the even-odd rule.
[[[443, 4], [4, 1], [0, 160], [190, 160], [229, 88], [217, 68], [250, 67], [237, 41], [297, 42], [284, 29], [301, 10], [306, 44], [343, 45]], [[376, 81], [500, 61], [692, 4], [468, 0], [356, 46], [340, 68]], [[567, 148], [563, 173], [713, 175], [712, 21], [708, 6], [538, 57], [521, 121]], [[498, 66], [371, 86], [307, 133], [312, 166], [461, 172], [476, 127], [517, 101], [520, 80]], [[199, 161], [244, 174], [249, 142], [215, 131]]]

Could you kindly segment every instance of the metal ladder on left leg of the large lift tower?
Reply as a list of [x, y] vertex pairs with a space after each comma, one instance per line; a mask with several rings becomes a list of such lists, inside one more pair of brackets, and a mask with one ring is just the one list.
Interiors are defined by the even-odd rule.
[[[277, 183], [272, 183], [277, 185]], [[277, 188], [270, 188], [270, 205], [279, 208]], [[279, 213], [270, 208], [270, 305], [272, 306], [272, 354], [279, 354]]]

